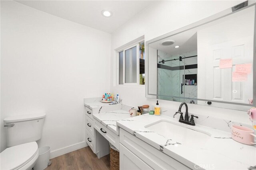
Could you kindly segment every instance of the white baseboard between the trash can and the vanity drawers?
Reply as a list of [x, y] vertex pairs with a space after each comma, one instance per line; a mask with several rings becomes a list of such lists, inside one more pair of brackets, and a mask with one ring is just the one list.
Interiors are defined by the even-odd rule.
[[86, 146], [88, 146], [88, 144], [84, 141], [84, 142], [80, 142], [80, 143], [77, 143], [77, 144], [72, 144], [70, 146], [66, 146], [64, 148], [53, 150], [53, 151], [50, 152], [50, 159], [55, 158], [57, 156], [67, 154], [67, 153], [72, 152], [74, 150], [84, 148]]

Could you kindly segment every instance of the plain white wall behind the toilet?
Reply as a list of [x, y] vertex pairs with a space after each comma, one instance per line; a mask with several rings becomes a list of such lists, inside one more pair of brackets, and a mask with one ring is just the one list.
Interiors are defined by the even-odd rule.
[[39, 146], [52, 157], [85, 146], [83, 98], [110, 91], [110, 34], [1, 1], [1, 35], [1, 123], [46, 113]]

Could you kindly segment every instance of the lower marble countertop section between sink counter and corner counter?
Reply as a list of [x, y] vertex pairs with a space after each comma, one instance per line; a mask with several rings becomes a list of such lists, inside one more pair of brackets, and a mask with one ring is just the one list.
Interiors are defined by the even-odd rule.
[[119, 128], [116, 127], [116, 121], [127, 121], [127, 119], [130, 118], [130, 113], [124, 110], [116, 110], [93, 114], [92, 116], [109, 130], [119, 135]]

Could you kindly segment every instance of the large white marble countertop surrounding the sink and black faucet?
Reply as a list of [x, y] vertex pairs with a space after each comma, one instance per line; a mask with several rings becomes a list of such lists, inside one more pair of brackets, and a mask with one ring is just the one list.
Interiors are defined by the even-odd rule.
[[[177, 139], [176, 136], [167, 137], [154, 129], [145, 128], [158, 121], [180, 125], [187, 128], [188, 133]], [[224, 130], [199, 124], [185, 125], [171, 115], [145, 114], [132, 117], [129, 121], [120, 120], [116, 125], [191, 169], [246, 170], [256, 166], [256, 146], [236, 142], [231, 138], [231, 133]], [[166, 130], [171, 132], [173, 129]], [[198, 136], [190, 136], [189, 130], [204, 131], [210, 136], [202, 142]]]

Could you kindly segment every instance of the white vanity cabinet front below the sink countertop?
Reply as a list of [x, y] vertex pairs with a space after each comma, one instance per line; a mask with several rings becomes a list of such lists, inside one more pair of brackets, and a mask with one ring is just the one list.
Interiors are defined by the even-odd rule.
[[190, 170], [184, 164], [120, 128], [120, 170]]

